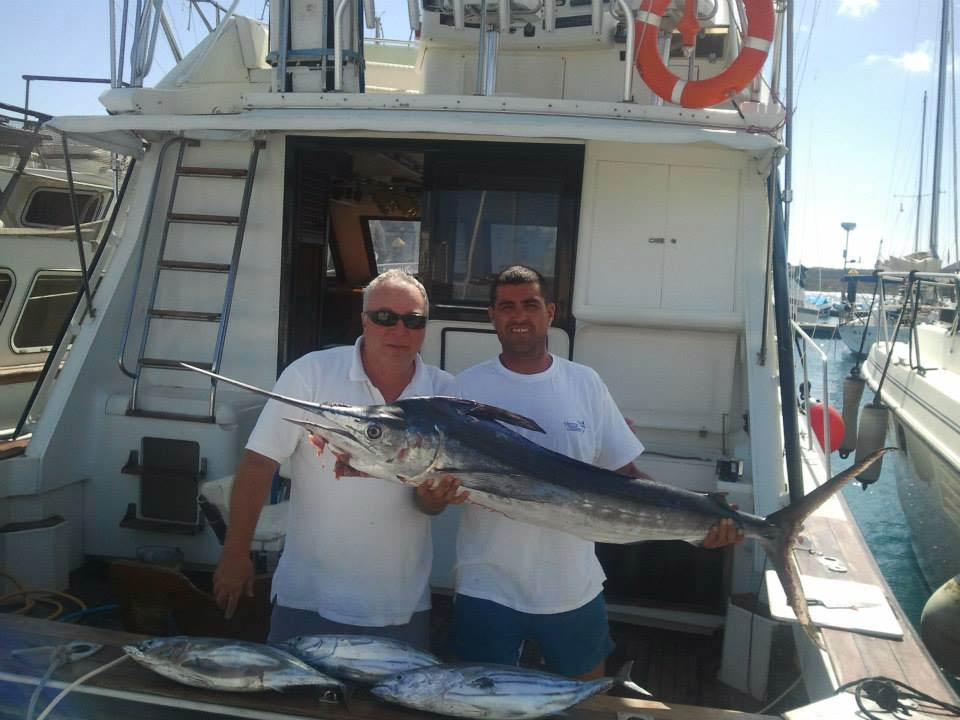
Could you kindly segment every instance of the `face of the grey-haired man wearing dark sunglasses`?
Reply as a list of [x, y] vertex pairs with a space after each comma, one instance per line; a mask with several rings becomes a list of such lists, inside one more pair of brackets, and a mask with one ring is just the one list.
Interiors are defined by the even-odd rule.
[[[367, 300], [367, 310], [392, 310], [398, 315], [426, 314], [426, 303], [420, 291], [412, 285], [385, 283], [378, 286]], [[393, 327], [377, 325], [366, 313], [363, 323], [364, 360], [389, 363], [394, 367], [412, 366], [420, 352], [426, 330], [411, 330], [398, 320]], [[395, 365], [394, 365], [395, 364]]]

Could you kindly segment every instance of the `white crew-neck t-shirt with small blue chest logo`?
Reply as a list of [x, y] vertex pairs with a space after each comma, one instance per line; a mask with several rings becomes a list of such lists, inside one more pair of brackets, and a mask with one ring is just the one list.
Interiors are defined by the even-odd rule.
[[[550, 367], [533, 375], [488, 360], [458, 375], [451, 391], [536, 420], [545, 433], [510, 429], [556, 452], [608, 470], [632, 462], [643, 445], [600, 376], [551, 357]], [[592, 542], [469, 503], [460, 520], [455, 575], [462, 595], [537, 614], [583, 606], [606, 579]]]

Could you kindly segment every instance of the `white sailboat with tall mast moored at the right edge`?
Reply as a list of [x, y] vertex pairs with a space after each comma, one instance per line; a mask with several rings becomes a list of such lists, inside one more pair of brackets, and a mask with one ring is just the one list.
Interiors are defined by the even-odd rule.
[[[951, 12], [950, 3], [944, 2], [943, 28], [951, 24]], [[931, 590], [960, 573], [960, 275], [940, 272], [937, 253], [940, 165], [947, 154], [943, 148], [945, 82], [951, 53], [945, 30], [940, 40], [929, 251], [893, 258], [885, 263], [889, 270], [878, 273], [881, 302], [884, 280], [903, 285], [905, 301], [895, 327], [908, 329], [906, 337], [888, 332], [885, 339], [877, 340], [862, 368], [875, 393], [869, 423], [881, 423], [886, 416], [888, 441], [901, 449], [894, 460], [897, 489]], [[867, 447], [857, 447], [858, 455], [883, 441], [882, 433], [874, 437]]]

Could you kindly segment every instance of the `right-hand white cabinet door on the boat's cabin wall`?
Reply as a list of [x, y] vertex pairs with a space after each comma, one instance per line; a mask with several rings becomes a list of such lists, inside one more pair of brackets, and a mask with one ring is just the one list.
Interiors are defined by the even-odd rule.
[[733, 312], [740, 174], [671, 166], [661, 307]]

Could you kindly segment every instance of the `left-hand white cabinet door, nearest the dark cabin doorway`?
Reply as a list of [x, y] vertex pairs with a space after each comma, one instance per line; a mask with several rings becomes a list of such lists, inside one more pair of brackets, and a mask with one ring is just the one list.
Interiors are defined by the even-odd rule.
[[596, 164], [588, 305], [659, 308], [666, 248], [666, 165]]

